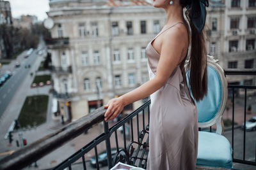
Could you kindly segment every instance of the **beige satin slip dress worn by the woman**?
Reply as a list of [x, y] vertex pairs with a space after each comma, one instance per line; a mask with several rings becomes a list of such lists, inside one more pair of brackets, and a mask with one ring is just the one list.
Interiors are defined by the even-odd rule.
[[[150, 80], [156, 74], [160, 57], [152, 46], [152, 41], [146, 48]], [[196, 169], [198, 119], [196, 106], [191, 102], [188, 86], [184, 83], [184, 74], [180, 69], [180, 65], [184, 67], [184, 60], [183, 64], [175, 67], [166, 84], [150, 95], [148, 170]]]

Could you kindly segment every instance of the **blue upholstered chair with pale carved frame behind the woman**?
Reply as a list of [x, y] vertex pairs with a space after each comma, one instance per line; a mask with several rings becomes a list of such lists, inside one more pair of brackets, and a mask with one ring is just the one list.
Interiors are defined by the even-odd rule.
[[231, 169], [232, 147], [223, 136], [222, 114], [227, 103], [227, 80], [223, 69], [212, 56], [207, 55], [208, 92], [196, 103], [198, 127], [216, 124], [216, 132], [198, 132], [196, 169]]

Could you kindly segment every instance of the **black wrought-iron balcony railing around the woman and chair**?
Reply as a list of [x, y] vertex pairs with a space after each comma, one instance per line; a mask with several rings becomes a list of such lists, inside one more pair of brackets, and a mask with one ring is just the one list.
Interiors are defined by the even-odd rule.
[[[256, 69], [251, 69], [250, 72], [246, 70], [225, 70], [226, 75], [237, 75], [237, 74], [251, 74], [256, 75]], [[245, 142], [246, 142], [246, 129], [244, 125], [243, 129], [243, 159], [238, 159], [234, 157], [236, 153], [236, 148], [234, 148], [234, 89], [244, 89], [244, 122], [246, 120], [246, 97], [247, 89], [256, 90], [256, 86], [253, 85], [228, 85], [228, 89], [232, 90], [232, 141], [230, 141], [233, 149], [233, 162], [238, 162], [241, 164], [256, 166], [255, 158], [254, 160], [245, 159]], [[138, 166], [146, 168], [147, 166], [147, 154], [148, 154], [148, 129], [150, 121], [150, 100], [143, 104], [140, 108], [133, 111], [125, 118], [117, 122], [113, 126], [109, 127], [108, 122], [104, 122], [104, 113], [105, 109], [100, 107], [97, 110], [92, 111], [89, 115], [79, 118], [78, 120], [65, 125], [59, 131], [56, 131], [48, 136], [45, 136], [42, 139], [39, 139], [35, 143], [28, 145], [12, 155], [8, 155], [0, 160], [0, 169], [22, 169], [23, 167], [28, 166], [32, 162], [35, 162], [38, 159], [41, 159], [47, 153], [50, 153], [61, 145], [67, 143], [71, 139], [76, 138], [84, 131], [87, 131], [92, 127], [92, 125], [103, 122], [104, 132], [93, 139], [90, 143], [87, 143], [83, 148], [78, 150], [76, 153], [68, 157], [67, 160], [64, 160], [54, 169], [72, 169], [74, 162], [81, 159], [81, 169], [86, 169], [86, 160], [84, 155], [91, 150], [95, 152], [95, 165], [99, 169], [99, 159], [98, 158], [98, 149], [100, 144], [106, 146], [106, 153], [108, 155], [108, 169], [113, 167], [117, 162], [125, 162], [126, 164], [131, 164], [132, 166]], [[122, 127], [123, 135], [122, 140], [118, 138], [117, 129]], [[127, 131], [126, 127], [129, 127]], [[212, 131], [212, 127], [209, 129], [199, 129]], [[127, 139], [128, 138], [128, 139]], [[116, 149], [115, 155], [111, 155], [111, 148]], [[252, 148], [255, 150], [255, 148]]]

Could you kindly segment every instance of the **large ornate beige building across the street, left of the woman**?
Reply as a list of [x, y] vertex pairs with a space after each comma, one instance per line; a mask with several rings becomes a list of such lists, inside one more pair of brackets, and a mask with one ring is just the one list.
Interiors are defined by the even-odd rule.
[[145, 47], [163, 27], [164, 10], [143, 0], [52, 0], [49, 5], [54, 25], [46, 43], [54, 94], [66, 120], [76, 120], [148, 80]]

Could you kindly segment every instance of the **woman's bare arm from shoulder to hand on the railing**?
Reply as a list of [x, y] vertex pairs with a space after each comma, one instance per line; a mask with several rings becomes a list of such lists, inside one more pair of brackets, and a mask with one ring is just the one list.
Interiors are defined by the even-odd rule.
[[[188, 46], [188, 42], [184, 40], [184, 38], [188, 38], [186, 32], [184, 32], [186, 28], [181, 25], [173, 27], [172, 31], [166, 31], [161, 43], [161, 57], [157, 65], [156, 76], [131, 92], [111, 99], [105, 106], [105, 108], [108, 108], [104, 115], [106, 121], [116, 118], [127, 104], [148, 97], [163, 87], [173, 69], [179, 64], [182, 52]], [[183, 27], [182, 31], [180, 31], [180, 27]]]

